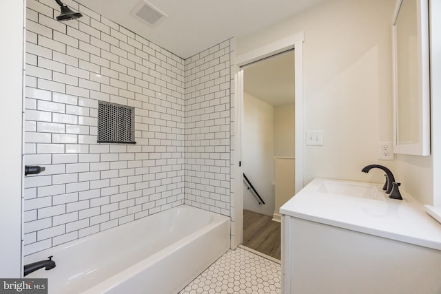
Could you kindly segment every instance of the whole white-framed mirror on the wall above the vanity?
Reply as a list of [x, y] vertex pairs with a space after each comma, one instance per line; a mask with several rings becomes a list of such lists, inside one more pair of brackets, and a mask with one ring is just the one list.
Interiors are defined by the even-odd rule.
[[393, 153], [430, 155], [429, 4], [398, 0], [393, 15]]

